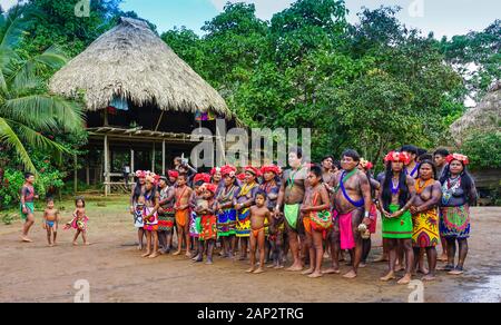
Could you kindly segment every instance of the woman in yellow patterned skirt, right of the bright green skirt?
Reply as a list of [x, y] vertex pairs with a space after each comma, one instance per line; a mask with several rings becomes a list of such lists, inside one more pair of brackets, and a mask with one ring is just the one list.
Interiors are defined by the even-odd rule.
[[[440, 243], [438, 206], [442, 198], [440, 181], [435, 180], [436, 168], [431, 160], [421, 161], [415, 180], [416, 197], [411, 206], [413, 235], [412, 246], [414, 256], [420, 256], [420, 250], [425, 249], [429, 272], [423, 280], [435, 279], [436, 245]], [[414, 269], [419, 259], [415, 258]]]

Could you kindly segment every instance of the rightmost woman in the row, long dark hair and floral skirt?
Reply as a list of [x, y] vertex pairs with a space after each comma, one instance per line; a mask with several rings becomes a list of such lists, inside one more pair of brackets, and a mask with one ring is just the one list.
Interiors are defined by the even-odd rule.
[[[440, 234], [448, 242], [448, 264], [443, 268], [451, 275], [463, 273], [468, 255], [468, 238], [470, 238], [470, 206], [477, 203], [477, 189], [473, 179], [466, 171], [468, 157], [453, 154], [446, 158], [440, 183], [442, 185], [442, 201], [440, 205]], [[458, 242], [459, 260], [454, 267]]]

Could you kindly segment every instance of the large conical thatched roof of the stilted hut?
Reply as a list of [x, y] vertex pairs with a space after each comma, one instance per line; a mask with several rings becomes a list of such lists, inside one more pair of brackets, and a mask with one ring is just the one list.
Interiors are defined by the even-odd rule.
[[121, 18], [50, 80], [50, 91], [75, 98], [84, 92], [90, 111], [114, 96], [161, 110], [212, 110], [234, 117], [223, 97], [183, 61], [144, 21]]

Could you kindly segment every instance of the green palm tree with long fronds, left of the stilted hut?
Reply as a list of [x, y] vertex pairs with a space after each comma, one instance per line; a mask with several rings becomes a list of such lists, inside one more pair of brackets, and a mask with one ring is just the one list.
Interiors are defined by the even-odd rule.
[[24, 168], [37, 173], [28, 148], [70, 152], [43, 134], [73, 132], [84, 128], [78, 105], [47, 90], [47, 73], [66, 63], [55, 49], [27, 57], [17, 51], [32, 12], [26, 7], [0, 11], [0, 145], [12, 149]]

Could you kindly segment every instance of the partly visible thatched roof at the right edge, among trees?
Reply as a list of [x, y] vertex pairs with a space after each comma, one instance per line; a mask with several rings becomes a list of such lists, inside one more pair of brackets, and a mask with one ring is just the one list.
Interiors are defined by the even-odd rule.
[[451, 126], [451, 134], [458, 144], [474, 130], [499, 131], [501, 129], [501, 81], [497, 81], [479, 105], [468, 110]]

